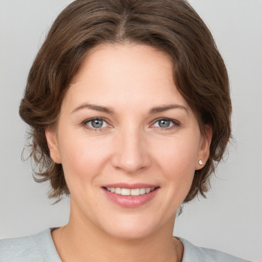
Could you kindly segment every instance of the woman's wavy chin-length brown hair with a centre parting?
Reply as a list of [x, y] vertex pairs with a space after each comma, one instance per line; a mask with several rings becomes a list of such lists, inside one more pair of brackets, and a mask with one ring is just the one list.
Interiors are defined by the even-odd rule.
[[212, 126], [210, 156], [196, 170], [184, 202], [205, 196], [210, 174], [230, 139], [231, 101], [224, 61], [213, 37], [183, 0], [77, 0], [54, 21], [29, 72], [20, 117], [31, 127], [37, 182], [50, 180], [49, 197], [69, 194], [61, 164], [50, 157], [45, 129], [59, 117], [65, 92], [88, 52], [100, 43], [143, 43], [173, 60], [174, 81], [199, 119]]

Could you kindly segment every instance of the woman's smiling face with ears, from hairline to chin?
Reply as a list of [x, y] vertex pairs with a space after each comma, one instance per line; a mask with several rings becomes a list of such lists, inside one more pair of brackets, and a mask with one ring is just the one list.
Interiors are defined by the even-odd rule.
[[171, 229], [208, 142], [170, 58], [100, 45], [85, 58], [46, 135], [71, 192], [71, 217], [120, 237]]

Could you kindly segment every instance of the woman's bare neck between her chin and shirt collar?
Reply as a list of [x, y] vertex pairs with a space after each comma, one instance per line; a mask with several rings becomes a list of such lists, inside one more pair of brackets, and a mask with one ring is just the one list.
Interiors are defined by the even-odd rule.
[[86, 219], [74, 216], [52, 233], [63, 262], [182, 261], [183, 245], [172, 236], [174, 218], [164, 228], [138, 239], [122, 239], [105, 233]]

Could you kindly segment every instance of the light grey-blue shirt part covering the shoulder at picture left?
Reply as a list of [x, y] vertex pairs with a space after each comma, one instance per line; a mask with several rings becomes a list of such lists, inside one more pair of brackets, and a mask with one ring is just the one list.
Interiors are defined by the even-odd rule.
[[0, 239], [1, 262], [60, 262], [50, 229], [31, 236]]

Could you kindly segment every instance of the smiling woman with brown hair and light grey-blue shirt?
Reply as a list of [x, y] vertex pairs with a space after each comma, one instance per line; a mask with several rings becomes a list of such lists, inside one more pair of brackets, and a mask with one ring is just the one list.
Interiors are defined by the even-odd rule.
[[3, 241], [3, 261], [244, 261], [172, 236], [231, 133], [223, 59], [186, 2], [73, 2], [19, 113], [37, 180], [51, 198], [70, 194], [71, 213], [64, 227]]

